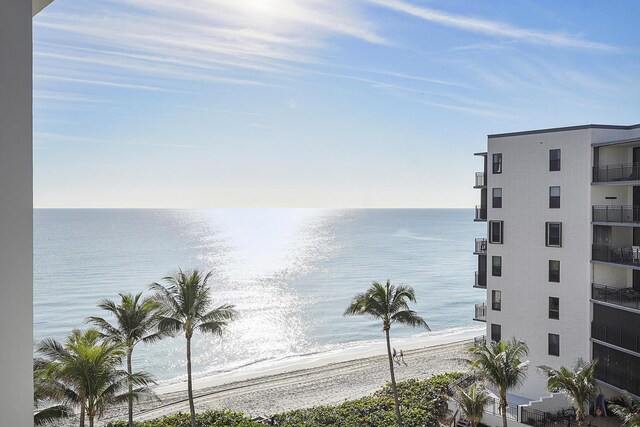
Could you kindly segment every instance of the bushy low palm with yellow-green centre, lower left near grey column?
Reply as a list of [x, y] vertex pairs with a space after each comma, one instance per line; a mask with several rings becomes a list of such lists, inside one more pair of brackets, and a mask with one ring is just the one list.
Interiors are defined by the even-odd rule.
[[84, 427], [85, 415], [89, 427], [93, 427], [107, 406], [127, 401], [129, 381], [139, 387], [133, 391], [135, 399], [146, 392], [150, 383], [146, 374], [129, 376], [118, 369], [125, 355], [124, 346], [101, 340], [95, 329], [74, 330], [64, 345], [53, 339], [44, 340], [38, 345], [38, 353], [47, 364], [48, 375], [63, 387], [69, 401], [80, 405], [80, 427]]

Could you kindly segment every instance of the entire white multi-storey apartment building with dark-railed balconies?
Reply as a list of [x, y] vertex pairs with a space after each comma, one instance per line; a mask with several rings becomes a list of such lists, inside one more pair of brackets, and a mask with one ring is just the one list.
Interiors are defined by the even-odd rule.
[[515, 393], [548, 395], [536, 367], [582, 357], [603, 389], [640, 395], [640, 125], [489, 135], [476, 155], [474, 319], [529, 345]]

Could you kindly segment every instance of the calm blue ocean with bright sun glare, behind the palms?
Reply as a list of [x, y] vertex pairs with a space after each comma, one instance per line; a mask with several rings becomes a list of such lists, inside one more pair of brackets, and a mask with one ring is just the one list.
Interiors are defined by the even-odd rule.
[[[222, 338], [194, 337], [194, 378], [382, 341], [379, 323], [343, 317], [373, 281], [413, 286], [433, 331], [394, 326], [392, 338], [477, 329], [484, 234], [471, 209], [36, 209], [34, 346], [178, 268], [212, 271], [213, 304], [239, 313]], [[184, 337], [139, 344], [134, 369], [183, 381]]]

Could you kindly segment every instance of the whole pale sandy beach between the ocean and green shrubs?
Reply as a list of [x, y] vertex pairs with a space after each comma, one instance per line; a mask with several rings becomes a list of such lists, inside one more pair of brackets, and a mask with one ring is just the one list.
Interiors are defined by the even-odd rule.
[[[465, 369], [461, 360], [478, 331], [421, 339], [395, 340], [406, 365], [396, 364], [396, 379], [428, 378]], [[263, 371], [220, 375], [194, 382], [197, 411], [227, 408], [248, 415], [267, 416], [292, 409], [336, 404], [380, 389], [389, 381], [384, 343], [302, 358]], [[137, 420], [188, 412], [186, 384], [158, 387], [162, 402], [135, 406]], [[126, 408], [114, 408], [101, 420], [125, 419]]]

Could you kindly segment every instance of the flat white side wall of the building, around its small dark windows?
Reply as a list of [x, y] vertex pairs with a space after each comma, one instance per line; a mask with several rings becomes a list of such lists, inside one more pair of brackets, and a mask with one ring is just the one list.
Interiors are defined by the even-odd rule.
[[[550, 172], [549, 150], [558, 148], [561, 170]], [[491, 172], [494, 153], [502, 153], [502, 174]], [[487, 333], [497, 323], [503, 339], [527, 342], [528, 380], [512, 393], [537, 399], [549, 394], [537, 366], [570, 366], [577, 357], [590, 357], [590, 130], [493, 137], [488, 160], [487, 218], [504, 221], [504, 244], [487, 250], [488, 298], [492, 290], [502, 291], [502, 310], [488, 309]], [[549, 209], [550, 186], [560, 186], [560, 209]], [[502, 188], [501, 209], [491, 207], [494, 187]], [[562, 222], [561, 248], [545, 245], [547, 221]], [[502, 277], [491, 276], [493, 255], [502, 256]], [[548, 281], [549, 260], [560, 260], [560, 283]], [[549, 297], [560, 299], [560, 320], [549, 319]], [[560, 335], [559, 357], [548, 355], [548, 333]]]

